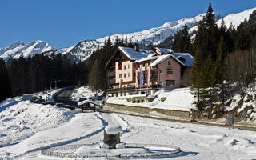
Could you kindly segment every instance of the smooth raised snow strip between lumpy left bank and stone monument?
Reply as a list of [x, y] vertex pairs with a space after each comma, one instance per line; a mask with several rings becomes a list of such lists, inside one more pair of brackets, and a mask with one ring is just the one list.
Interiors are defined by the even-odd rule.
[[1, 157], [22, 158], [26, 154], [41, 151], [52, 146], [62, 146], [90, 138], [104, 130], [98, 113], [75, 114], [69, 122], [54, 129], [44, 130], [22, 142], [1, 148]]

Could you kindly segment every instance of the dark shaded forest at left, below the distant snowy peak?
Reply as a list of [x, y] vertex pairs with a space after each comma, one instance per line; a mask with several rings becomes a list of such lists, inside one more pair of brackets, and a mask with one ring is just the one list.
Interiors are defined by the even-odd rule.
[[79, 86], [87, 83], [86, 62], [71, 62], [66, 55], [36, 54], [32, 58], [23, 55], [9, 58], [6, 62], [0, 58], [1, 99], [16, 95], [49, 90], [50, 86]]

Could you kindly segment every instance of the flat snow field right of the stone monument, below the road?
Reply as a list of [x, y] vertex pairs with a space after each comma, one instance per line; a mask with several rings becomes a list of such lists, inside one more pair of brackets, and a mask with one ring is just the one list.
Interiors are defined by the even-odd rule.
[[129, 130], [122, 134], [123, 142], [178, 146], [185, 156], [174, 159], [256, 158], [254, 131], [120, 116], [128, 122]]

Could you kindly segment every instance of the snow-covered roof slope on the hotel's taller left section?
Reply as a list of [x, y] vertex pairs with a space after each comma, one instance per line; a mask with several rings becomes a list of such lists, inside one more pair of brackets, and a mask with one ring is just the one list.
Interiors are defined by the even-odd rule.
[[118, 48], [119, 48], [119, 50], [122, 51], [122, 53], [126, 54], [126, 56], [128, 58], [130, 58], [130, 60], [139, 60], [142, 58], [150, 58], [155, 55], [155, 53], [152, 50], [136, 51], [136, 50], [134, 50], [134, 48], [122, 47], [122, 46], [119, 46]]

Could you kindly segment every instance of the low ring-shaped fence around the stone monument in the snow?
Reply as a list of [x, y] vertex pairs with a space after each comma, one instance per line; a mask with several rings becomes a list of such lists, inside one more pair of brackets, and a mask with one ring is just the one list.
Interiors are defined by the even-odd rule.
[[174, 150], [162, 150], [149, 153], [127, 153], [127, 154], [73, 154], [73, 153], [63, 153], [55, 152], [56, 150], [70, 150], [78, 149], [81, 146], [90, 146], [90, 145], [68, 145], [68, 146], [56, 146], [50, 149], [42, 150], [41, 154], [58, 157], [58, 158], [93, 158], [93, 157], [118, 157], [118, 158], [134, 158], [134, 157], [154, 157], [154, 156], [166, 156], [174, 154], [182, 154], [179, 147], [170, 146], [170, 145], [157, 145], [157, 144], [139, 144], [139, 143], [126, 143], [126, 146], [130, 147], [159, 147], [159, 148], [170, 148]]

